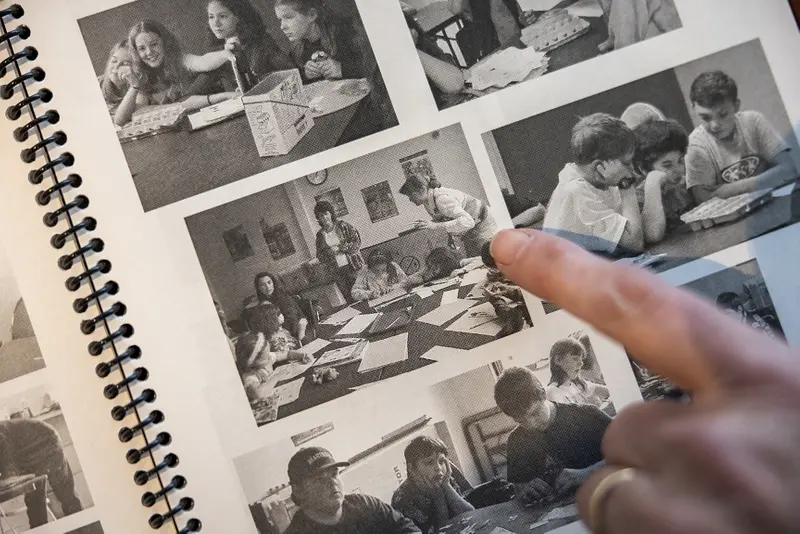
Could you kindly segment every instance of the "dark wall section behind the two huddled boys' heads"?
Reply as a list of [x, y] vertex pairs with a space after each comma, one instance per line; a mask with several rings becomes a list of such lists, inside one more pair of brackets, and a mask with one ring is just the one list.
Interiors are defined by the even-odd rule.
[[580, 117], [605, 112], [616, 117], [636, 102], [647, 102], [693, 128], [678, 79], [664, 71], [572, 104], [494, 130], [494, 138], [516, 195], [547, 204], [558, 173], [573, 160], [572, 128]]

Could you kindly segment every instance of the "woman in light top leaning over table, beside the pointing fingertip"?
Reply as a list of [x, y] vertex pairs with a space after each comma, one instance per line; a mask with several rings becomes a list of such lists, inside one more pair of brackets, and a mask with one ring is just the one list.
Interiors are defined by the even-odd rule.
[[443, 228], [451, 240], [460, 237], [467, 257], [480, 256], [484, 243], [497, 233], [497, 222], [485, 202], [463, 191], [442, 187], [435, 177], [410, 176], [400, 194], [414, 205], [424, 206], [433, 219], [417, 221], [416, 228]]

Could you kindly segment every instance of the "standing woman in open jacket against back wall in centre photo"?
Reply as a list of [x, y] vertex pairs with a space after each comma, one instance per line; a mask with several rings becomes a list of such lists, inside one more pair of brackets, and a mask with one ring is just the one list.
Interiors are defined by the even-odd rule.
[[349, 299], [356, 274], [364, 266], [361, 236], [352, 224], [339, 220], [330, 202], [317, 202], [314, 217], [320, 226], [317, 258], [334, 277], [344, 298]]

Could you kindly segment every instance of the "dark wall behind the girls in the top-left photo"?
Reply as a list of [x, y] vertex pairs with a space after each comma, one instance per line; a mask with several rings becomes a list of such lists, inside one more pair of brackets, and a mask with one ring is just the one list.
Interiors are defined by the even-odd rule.
[[[134, 24], [144, 19], [152, 19], [167, 27], [181, 43], [186, 52], [208, 52], [206, 44], [208, 0], [139, 0], [109, 9], [78, 21], [89, 57], [99, 75], [105, 70], [112, 46], [124, 39]], [[267, 31], [284, 49], [289, 49], [289, 41], [280, 30], [275, 17], [274, 0], [250, 0], [261, 14]], [[354, 0], [326, 0], [325, 4], [344, 16], [358, 16]]]

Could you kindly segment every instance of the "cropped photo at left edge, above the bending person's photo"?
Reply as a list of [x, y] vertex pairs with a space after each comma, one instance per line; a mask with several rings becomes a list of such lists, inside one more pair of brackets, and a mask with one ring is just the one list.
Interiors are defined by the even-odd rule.
[[0, 245], [0, 383], [44, 367], [25, 301]]

